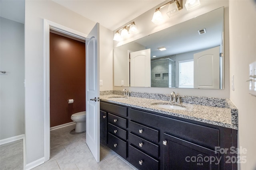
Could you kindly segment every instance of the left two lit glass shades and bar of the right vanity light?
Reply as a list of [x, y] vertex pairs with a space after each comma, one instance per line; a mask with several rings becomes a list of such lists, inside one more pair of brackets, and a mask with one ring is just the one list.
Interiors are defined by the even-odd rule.
[[167, 11], [167, 15], [173, 16], [175, 14], [178, 13], [179, 10], [181, 10], [183, 8], [183, 0], [180, 0], [180, 2], [178, 0], [172, 0], [162, 6], [160, 6], [159, 8], [156, 8], [156, 11], [154, 12], [153, 18], [152, 18], [152, 22], [157, 24], [157, 23], [161, 23], [162, 21], [164, 21], [162, 13], [160, 12], [161, 8], [164, 8], [165, 6], [168, 6], [168, 11]]

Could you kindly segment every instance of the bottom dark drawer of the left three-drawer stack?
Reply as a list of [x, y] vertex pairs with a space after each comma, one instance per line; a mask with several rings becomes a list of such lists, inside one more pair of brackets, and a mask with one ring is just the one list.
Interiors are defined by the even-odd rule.
[[108, 145], [110, 149], [114, 150], [117, 154], [126, 158], [126, 142], [122, 141], [118, 137], [115, 137], [111, 133], [108, 133]]

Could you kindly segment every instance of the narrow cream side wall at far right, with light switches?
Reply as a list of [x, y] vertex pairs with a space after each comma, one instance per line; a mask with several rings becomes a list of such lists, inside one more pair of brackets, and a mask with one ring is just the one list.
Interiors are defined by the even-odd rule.
[[[249, 94], [249, 64], [256, 62], [256, 2], [230, 0], [230, 99], [238, 108], [238, 146], [247, 149], [241, 170], [256, 169], [256, 97]], [[243, 11], [238, 12], [238, 11]]]

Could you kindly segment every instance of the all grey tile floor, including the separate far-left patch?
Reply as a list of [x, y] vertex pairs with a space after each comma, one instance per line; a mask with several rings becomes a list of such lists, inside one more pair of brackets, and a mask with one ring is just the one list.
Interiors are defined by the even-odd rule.
[[[96, 163], [86, 145], [86, 134], [75, 133], [75, 125], [50, 132], [50, 160], [33, 170], [134, 170], [129, 162], [113, 150], [100, 145], [100, 162]], [[23, 169], [23, 140], [0, 145], [0, 170]]]

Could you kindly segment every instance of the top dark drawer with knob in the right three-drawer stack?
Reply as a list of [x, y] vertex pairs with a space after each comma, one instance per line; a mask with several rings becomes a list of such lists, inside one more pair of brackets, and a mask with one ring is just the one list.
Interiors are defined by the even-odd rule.
[[129, 121], [129, 129], [131, 132], [148, 139], [149, 141], [153, 141], [158, 143], [158, 130], [152, 129], [150, 127], [146, 127], [144, 125], [140, 125], [138, 123]]

